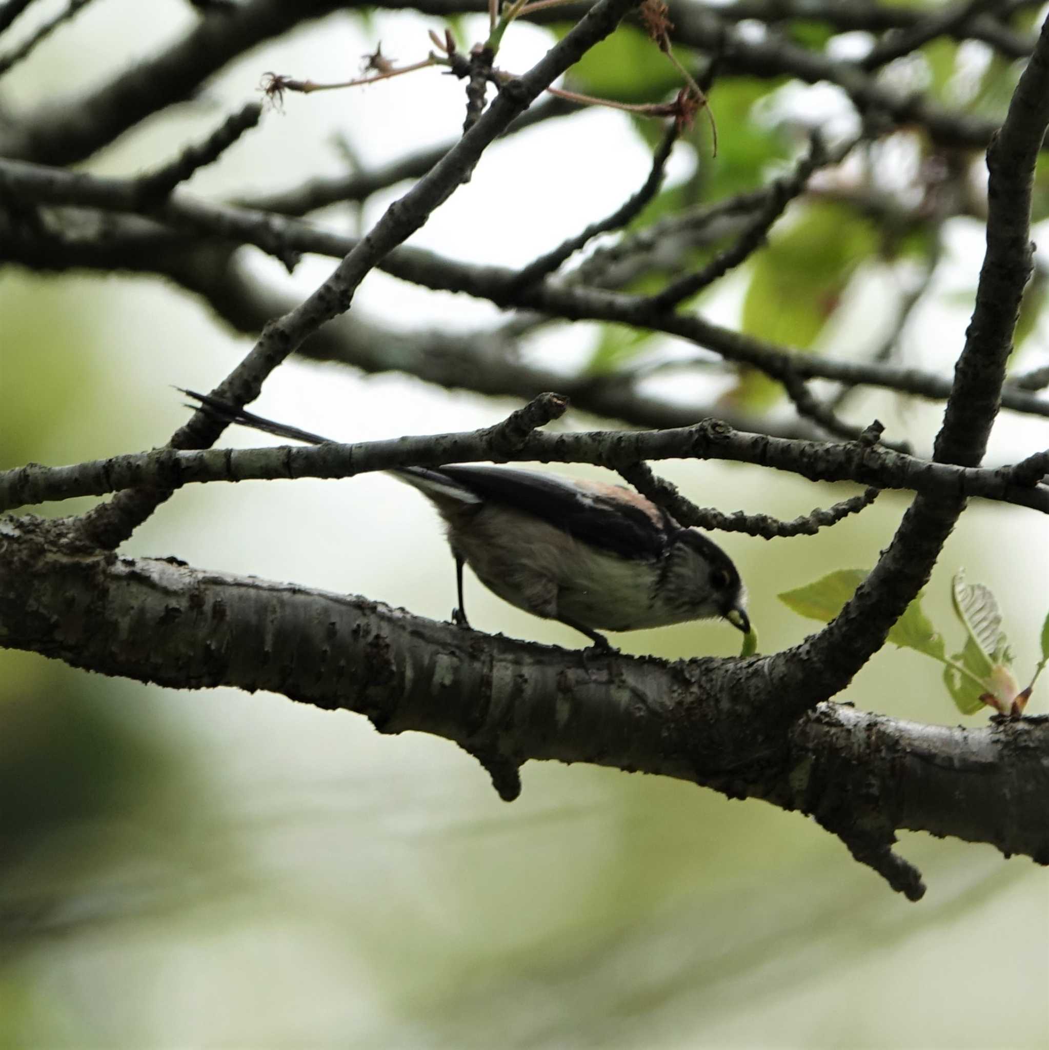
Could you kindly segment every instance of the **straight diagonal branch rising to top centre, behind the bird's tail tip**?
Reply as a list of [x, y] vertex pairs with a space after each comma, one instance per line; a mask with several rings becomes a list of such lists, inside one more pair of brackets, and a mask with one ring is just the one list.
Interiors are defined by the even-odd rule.
[[[418, 230], [465, 182], [481, 153], [509, 122], [557, 77], [574, 64], [597, 40], [606, 37], [634, 0], [599, 0], [589, 14], [523, 77], [506, 84], [488, 110], [427, 175], [386, 209], [366, 237], [358, 242], [334, 273], [290, 313], [270, 322], [248, 356], [212, 392], [222, 401], [243, 407], [258, 397], [267, 376], [309, 335], [350, 308], [357, 286], [380, 259]], [[228, 21], [222, 19], [219, 21]], [[223, 426], [194, 413], [169, 444], [200, 448], [213, 444]], [[80, 531], [97, 546], [113, 548], [126, 540], [169, 492], [130, 489], [85, 514]]]

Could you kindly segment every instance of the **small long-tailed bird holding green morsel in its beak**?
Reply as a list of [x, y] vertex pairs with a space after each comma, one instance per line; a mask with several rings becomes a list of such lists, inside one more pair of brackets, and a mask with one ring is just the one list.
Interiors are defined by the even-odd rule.
[[[322, 438], [193, 391], [184, 394], [227, 423], [292, 441]], [[582, 632], [635, 631], [723, 616], [750, 634], [747, 591], [728, 554], [696, 528], [622, 485], [503, 466], [410, 466], [390, 470], [419, 489], [444, 520], [459, 606], [469, 627], [463, 565], [510, 605]]]

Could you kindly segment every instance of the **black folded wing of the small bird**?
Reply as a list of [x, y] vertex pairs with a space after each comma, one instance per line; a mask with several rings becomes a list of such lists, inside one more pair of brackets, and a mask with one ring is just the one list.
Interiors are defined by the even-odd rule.
[[500, 466], [436, 469], [485, 501], [533, 514], [583, 543], [622, 558], [658, 558], [669, 532], [676, 529], [653, 504], [620, 486], [575, 483], [555, 475]]

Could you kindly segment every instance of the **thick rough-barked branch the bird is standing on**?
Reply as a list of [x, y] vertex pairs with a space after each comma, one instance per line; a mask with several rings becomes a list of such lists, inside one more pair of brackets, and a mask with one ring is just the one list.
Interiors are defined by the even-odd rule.
[[[839, 834], [847, 813], [1049, 862], [1049, 719], [963, 730], [837, 706], [798, 718], [772, 702], [768, 657], [566, 653], [66, 536], [61, 523], [0, 520], [4, 645], [165, 686], [271, 690], [516, 764], [676, 777], [813, 813]], [[897, 881], [920, 896], [914, 878]]]

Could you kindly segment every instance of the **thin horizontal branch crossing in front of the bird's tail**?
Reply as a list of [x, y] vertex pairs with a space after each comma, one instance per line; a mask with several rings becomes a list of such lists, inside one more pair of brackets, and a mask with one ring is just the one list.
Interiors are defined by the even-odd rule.
[[[332, 442], [305, 447], [280, 445], [200, 452], [166, 447], [72, 466], [48, 467], [30, 463], [0, 472], [0, 509], [78, 496], [104, 496], [131, 486], [166, 489], [222, 481], [351, 478], [400, 466], [492, 460], [593, 463], [629, 471], [638, 462], [666, 459], [753, 463], [797, 474], [810, 481], [853, 481], [875, 488], [909, 489], [951, 500], [975, 496], [1049, 513], [1049, 486], [1034, 483], [1036, 479], [1032, 478], [1030, 465], [1020, 471], [1017, 480], [1014, 468], [1009, 466], [994, 469], [960, 467], [865, 441], [830, 443], [746, 434], [733, 430], [717, 419], [665, 430], [533, 433], [513, 446], [494, 437], [492, 429], [485, 427], [460, 434], [358, 444]], [[704, 524], [708, 528], [739, 531], [732, 524], [734, 516], [728, 516], [725, 521], [709, 517]], [[792, 534], [802, 533], [807, 534], [804, 529]]]

